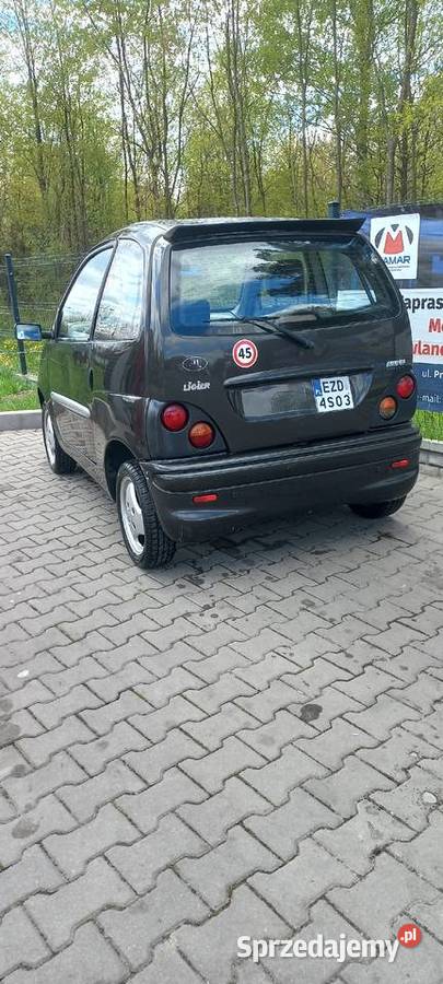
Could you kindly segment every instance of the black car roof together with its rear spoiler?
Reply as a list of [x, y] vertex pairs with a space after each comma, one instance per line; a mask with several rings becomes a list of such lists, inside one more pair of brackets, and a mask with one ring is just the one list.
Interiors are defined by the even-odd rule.
[[[148, 245], [162, 236], [168, 243], [182, 243], [193, 238], [206, 238], [215, 235], [241, 236], [250, 233], [293, 234], [330, 234], [341, 233], [354, 235], [361, 227], [364, 216], [352, 219], [281, 219], [281, 218], [211, 218], [211, 219], [154, 219], [147, 222], [133, 222], [115, 233], [115, 236], [130, 235]], [[109, 237], [110, 238], [110, 237]]]

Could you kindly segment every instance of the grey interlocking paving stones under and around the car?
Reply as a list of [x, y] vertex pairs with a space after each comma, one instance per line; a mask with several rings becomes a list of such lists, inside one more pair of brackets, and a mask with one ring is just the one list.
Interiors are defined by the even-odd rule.
[[[141, 573], [38, 434], [0, 454], [0, 979], [441, 984], [441, 482]], [[393, 963], [237, 956], [412, 921]]]

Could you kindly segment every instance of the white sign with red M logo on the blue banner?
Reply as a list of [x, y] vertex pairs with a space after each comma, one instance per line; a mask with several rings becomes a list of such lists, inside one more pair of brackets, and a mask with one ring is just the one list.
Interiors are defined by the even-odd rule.
[[371, 219], [371, 243], [396, 280], [416, 280], [420, 215], [377, 215]]

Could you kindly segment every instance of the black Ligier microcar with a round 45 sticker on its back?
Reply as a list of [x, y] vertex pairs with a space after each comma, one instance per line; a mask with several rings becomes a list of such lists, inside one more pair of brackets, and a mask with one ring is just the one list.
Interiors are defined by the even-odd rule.
[[42, 356], [46, 453], [116, 499], [140, 566], [261, 517], [405, 501], [420, 446], [410, 327], [359, 226], [140, 222], [81, 263]]

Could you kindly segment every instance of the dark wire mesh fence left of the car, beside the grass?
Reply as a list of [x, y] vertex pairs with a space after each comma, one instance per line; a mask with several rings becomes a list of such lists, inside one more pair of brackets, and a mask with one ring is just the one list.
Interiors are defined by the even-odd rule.
[[40, 254], [0, 263], [0, 375], [5, 372], [34, 376], [42, 345], [18, 342], [15, 321], [32, 321], [48, 330], [60, 295], [81, 257], [77, 254]]

